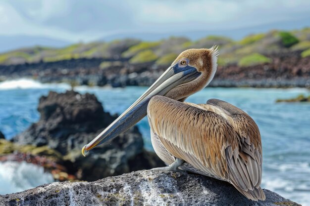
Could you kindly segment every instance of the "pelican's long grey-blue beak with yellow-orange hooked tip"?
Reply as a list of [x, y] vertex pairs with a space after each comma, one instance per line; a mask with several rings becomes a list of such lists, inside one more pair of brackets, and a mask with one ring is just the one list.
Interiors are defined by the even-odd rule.
[[158, 80], [142, 94], [123, 114], [121, 114], [112, 124], [106, 127], [93, 141], [85, 145], [82, 154], [93, 149], [108, 140], [118, 136], [122, 132], [138, 123], [147, 115], [147, 107], [150, 99], [155, 95], [164, 96], [173, 87], [190, 82], [196, 79], [201, 73], [194, 67], [187, 66], [179, 68], [176, 65], [170, 66]]

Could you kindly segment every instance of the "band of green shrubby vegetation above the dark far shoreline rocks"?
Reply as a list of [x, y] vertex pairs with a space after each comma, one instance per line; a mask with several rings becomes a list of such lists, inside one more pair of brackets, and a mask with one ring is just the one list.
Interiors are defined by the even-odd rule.
[[[134, 39], [110, 42], [77, 43], [63, 48], [32, 47], [0, 54], [0, 64], [22, 64], [25, 62], [54, 62], [78, 58], [119, 58], [130, 63], [151, 62], [170, 65], [176, 56], [189, 48], [220, 46], [218, 65], [257, 65], [271, 62], [271, 53], [303, 51], [302, 57], [310, 55], [310, 28], [294, 31], [272, 30], [265, 34], [253, 34], [240, 41], [221, 36], [207, 36], [197, 41], [183, 37], [170, 37], [161, 41]], [[101, 69], [118, 66], [103, 62]]]

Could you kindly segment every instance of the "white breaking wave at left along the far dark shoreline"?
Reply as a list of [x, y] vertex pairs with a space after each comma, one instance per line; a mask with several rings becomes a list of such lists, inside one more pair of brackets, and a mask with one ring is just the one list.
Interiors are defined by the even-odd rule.
[[41, 83], [32, 79], [7, 80], [0, 82], [0, 90], [29, 88], [64, 88], [70, 89], [67, 83]]

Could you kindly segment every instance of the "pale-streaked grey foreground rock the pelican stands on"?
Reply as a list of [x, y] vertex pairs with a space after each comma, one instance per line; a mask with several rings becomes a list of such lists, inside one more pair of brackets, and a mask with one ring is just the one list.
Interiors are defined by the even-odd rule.
[[264, 189], [250, 201], [229, 183], [206, 176], [142, 170], [95, 182], [55, 182], [0, 196], [1, 206], [300, 206]]

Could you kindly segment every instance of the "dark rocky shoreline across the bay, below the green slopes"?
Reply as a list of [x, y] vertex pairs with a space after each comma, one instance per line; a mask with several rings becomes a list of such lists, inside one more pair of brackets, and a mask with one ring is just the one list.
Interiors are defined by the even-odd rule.
[[[309, 88], [310, 56], [302, 58], [300, 53], [270, 54], [268, 57], [272, 63], [256, 66], [218, 66], [209, 86]], [[102, 62], [108, 62], [109, 66], [100, 68]], [[0, 65], [0, 80], [26, 77], [41, 82], [68, 82], [72, 85], [150, 86], [168, 66], [158, 66], [154, 62], [130, 64], [128, 59], [82, 58]]]

